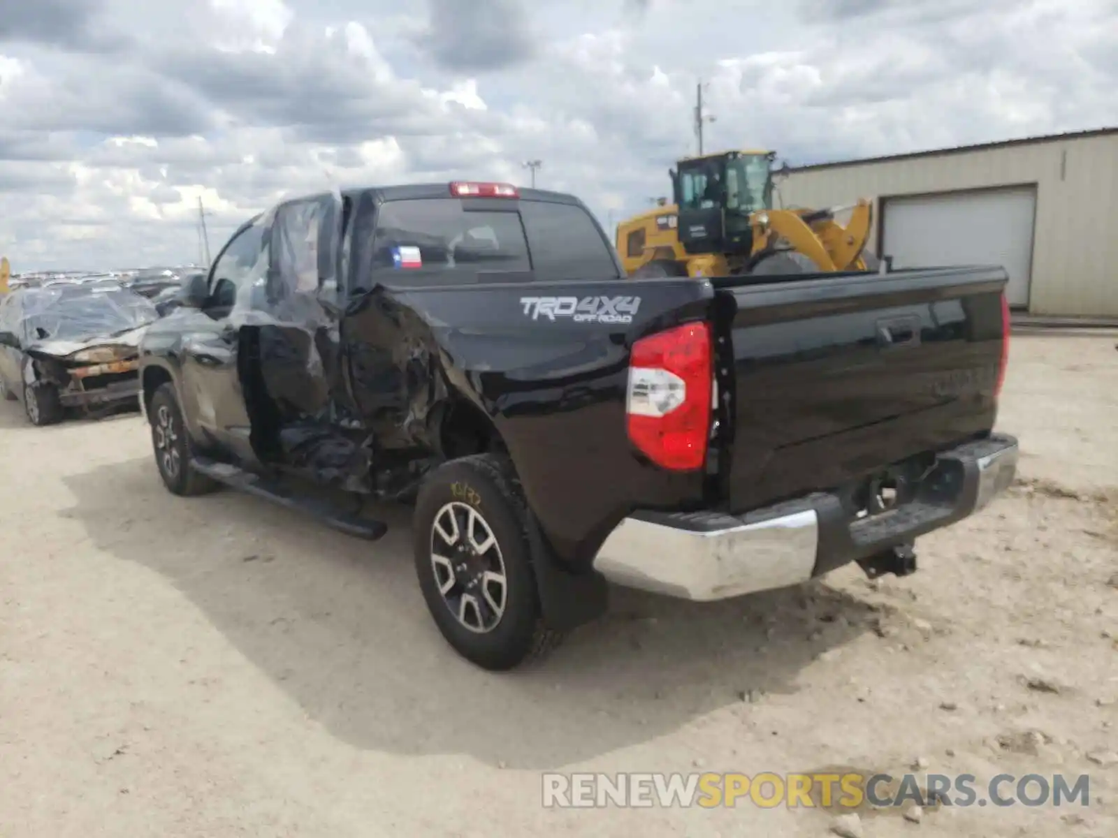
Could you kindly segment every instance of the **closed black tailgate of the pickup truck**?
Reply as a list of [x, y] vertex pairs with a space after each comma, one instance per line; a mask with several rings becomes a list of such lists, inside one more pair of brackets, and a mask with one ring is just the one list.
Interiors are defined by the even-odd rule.
[[853, 485], [989, 431], [1005, 283], [986, 267], [713, 280], [730, 511]]

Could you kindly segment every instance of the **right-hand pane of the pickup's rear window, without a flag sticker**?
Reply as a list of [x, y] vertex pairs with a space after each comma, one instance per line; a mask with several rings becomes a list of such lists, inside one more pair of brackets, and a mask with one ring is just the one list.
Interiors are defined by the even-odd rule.
[[521, 200], [520, 216], [537, 279], [620, 278], [613, 249], [582, 207]]

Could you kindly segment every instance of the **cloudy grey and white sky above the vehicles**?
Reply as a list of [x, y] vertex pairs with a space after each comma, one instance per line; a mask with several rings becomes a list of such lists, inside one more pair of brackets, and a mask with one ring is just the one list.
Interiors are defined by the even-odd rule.
[[1118, 123], [1118, 0], [0, 0], [0, 251], [197, 259], [284, 194], [539, 182], [603, 222], [694, 151], [793, 164]]

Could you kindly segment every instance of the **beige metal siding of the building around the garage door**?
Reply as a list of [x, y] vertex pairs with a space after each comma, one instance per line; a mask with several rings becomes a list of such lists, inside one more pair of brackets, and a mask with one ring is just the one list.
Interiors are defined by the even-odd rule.
[[826, 207], [1030, 183], [1038, 192], [1030, 311], [1118, 316], [1118, 134], [794, 171], [779, 193], [785, 206]]

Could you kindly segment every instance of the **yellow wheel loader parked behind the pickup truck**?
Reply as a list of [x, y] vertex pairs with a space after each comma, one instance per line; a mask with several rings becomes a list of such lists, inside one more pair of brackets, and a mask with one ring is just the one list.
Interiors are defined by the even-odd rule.
[[[770, 151], [685, 158], [669, 171], [673, 203], [617, 225], [629, 276], [730, 276], [877, 270], [863, 253], [873, 204], [774, 209]], [[835, 216], [850, 210], [845, 225]]]

